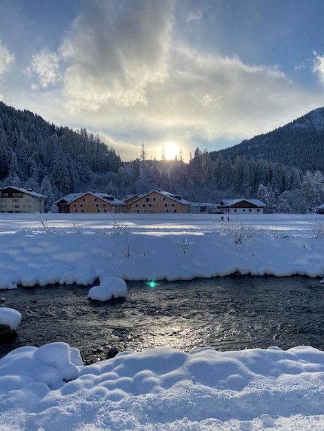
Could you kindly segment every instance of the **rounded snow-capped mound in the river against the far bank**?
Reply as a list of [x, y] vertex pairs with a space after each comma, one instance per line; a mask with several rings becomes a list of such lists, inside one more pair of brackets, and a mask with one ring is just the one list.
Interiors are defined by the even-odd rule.
[[114, 298], [126, 297], [127, 284], [125, 280], [117, 277], [105, 277], [99, 286], [90, 288], [88, 298], [95, 301], [109, 301]]

